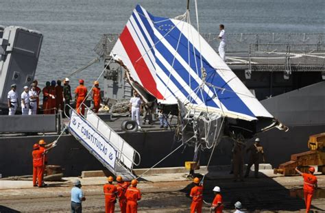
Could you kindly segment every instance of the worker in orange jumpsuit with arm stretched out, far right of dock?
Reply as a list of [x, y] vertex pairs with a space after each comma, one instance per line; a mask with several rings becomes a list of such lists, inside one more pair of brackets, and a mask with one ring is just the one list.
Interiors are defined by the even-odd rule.
[[306, 212], [311, 209], [311, 199], [313, 199], [313, 192], [317, 189], [317, 177], [313, 175], [315, 168], [309, 167], [309, 173], [302, 173], [296, 167], [297, 173], [304, 178], [304, 203], [306, 204]]

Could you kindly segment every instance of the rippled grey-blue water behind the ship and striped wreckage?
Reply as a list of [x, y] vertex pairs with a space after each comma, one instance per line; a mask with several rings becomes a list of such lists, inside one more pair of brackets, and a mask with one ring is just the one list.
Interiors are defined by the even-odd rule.
[[[96, 57], [101, 34], [119, 33], [140, 3], [156, 16], [183, 14], [186, 0], [0, 0], [0, 25], [19, 25], [43, 33], [36, 78], [45, 81], [67, 74]], [[200, 31], [218, 32], [219, 23], [231, 33], [325, 32], [324, 0], [198, 0]], [[193, 0], [192, 21], [195, 22]], [[101, 73], [103, 63], [71, 77], [86, 86]]]

